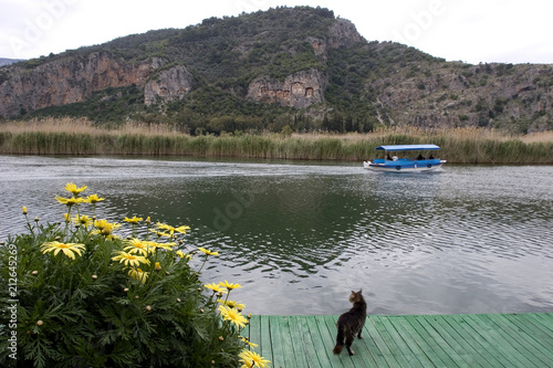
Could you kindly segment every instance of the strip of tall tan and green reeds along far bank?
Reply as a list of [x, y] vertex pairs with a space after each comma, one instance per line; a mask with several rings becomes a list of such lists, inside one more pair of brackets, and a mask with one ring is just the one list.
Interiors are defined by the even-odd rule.
[[167, 126], [95, 127], [86, 119], [0, 125], [3, 155], [210, 156], [302, 160], [375, 158], [379, 145], [427, 144], [450, 164], [553, 164], [553, 132], [508, 135], [481, 128], [387, 128], [368, 134], [189, 136]]

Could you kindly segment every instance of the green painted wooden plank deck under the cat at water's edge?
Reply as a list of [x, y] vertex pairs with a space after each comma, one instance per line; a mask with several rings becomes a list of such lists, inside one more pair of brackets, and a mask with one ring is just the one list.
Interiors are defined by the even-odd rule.
[[337, 316], [252, 316], [243, 332], [273, 368], [553, 367], [553, 313], [368, 316], [332, 354]]

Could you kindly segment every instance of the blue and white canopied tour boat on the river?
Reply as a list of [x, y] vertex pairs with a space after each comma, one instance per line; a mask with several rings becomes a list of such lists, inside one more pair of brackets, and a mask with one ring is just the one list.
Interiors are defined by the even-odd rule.
[[[373, 161], [363, 161], [365, 169], [375, 171], [392, 171], [392, 172], [416, 172], [430, 171], [440, 168], [446, 160], [440, 160], [434, 157], [434, 151], [440, 149], [436, 145], [390, 145], [378, 146], [376, 150], [384, 151], [384, 158], [376, 158]], [[400, 156], [397, 157], [397, 153]], [[409, 153], [413, 155], [407, 155]], [[390, 156], [390, 154], [393, 156]]]

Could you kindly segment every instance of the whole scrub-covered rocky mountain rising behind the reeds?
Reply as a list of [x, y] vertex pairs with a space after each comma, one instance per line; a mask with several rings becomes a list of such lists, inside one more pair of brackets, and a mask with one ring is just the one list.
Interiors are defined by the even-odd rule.
[[192, 134], [377, 126], [553, 129], [553, 65], [446, 62], [367, 41], [324, 8], [210, 18], [186, 29], [0, 67], [4, 118], [86, 116]]

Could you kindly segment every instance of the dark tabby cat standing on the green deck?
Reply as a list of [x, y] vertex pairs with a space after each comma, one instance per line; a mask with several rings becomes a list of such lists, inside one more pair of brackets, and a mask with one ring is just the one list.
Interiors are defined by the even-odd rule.
[[363, 326], [365, 326], [365, 319], [367, 317], [367, 303], [363, 298], [362, 291], [357, 293], [352, 291], [349, 295], [349, 302], [353, 303], [353, 307], [340, 316], [336, 327], [338, 334], [336, 336], [336, 346], [332, 353], [340, 354], [344, 347], [344, 339], [347, 353], [354, 355], [355, 351], [352, 350], [352, 344], [355, 339], [355, 335], [358, 338], [363, 338], [361, 335]]

